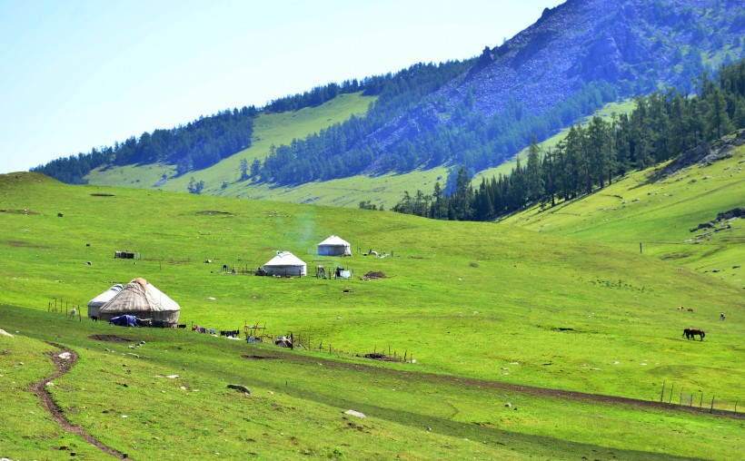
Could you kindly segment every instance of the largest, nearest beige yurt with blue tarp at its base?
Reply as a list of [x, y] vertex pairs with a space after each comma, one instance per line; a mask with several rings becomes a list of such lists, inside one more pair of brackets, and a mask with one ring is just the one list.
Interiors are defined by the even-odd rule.
[[174, 299], [144, 279], [134, 279], [99, 310], [104, 321], [121, 315], [152, 319], [154, 326], [176, 327], [181, 308]]

